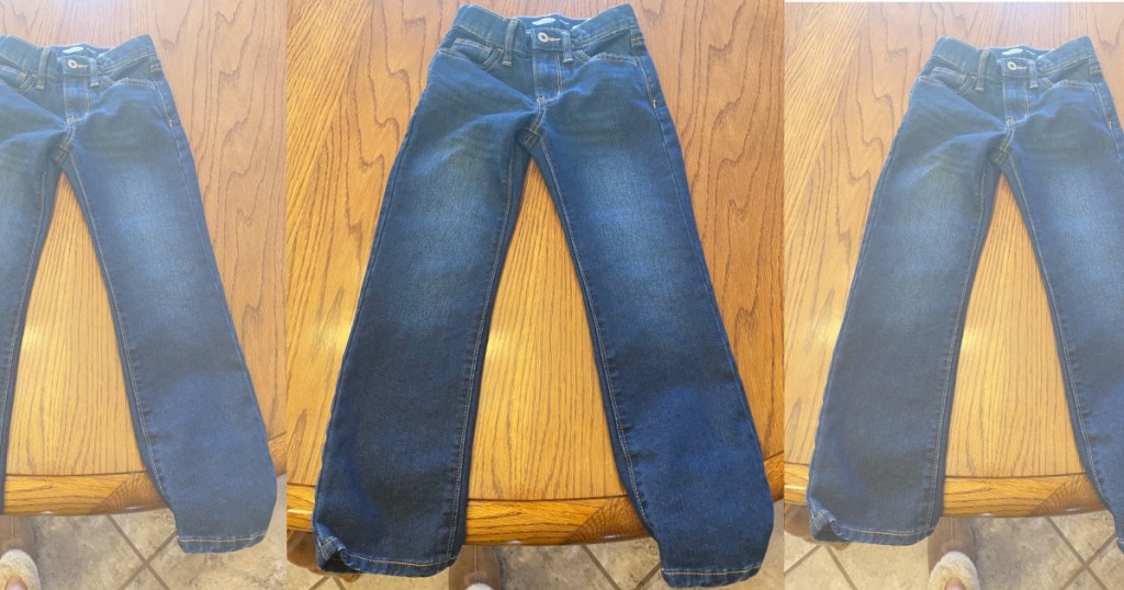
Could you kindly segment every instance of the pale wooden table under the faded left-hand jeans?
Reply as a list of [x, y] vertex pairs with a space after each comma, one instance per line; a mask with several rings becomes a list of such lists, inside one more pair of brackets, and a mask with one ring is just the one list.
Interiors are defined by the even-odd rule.
[[[152, 35], [194, 152], [227, 300], [283, 471], [284, 12], [245, 0], [171, 4], [3, 0], [0, 34], [101, 46]], [[133, 435], [90, 234], [65, 182], [31, 291], [11, 426], [6, 512], [162, 506]]]

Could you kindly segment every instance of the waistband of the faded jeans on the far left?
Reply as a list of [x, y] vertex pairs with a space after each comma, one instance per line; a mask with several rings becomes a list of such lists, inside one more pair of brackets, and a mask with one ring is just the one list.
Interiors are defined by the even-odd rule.
[[13, 35], [0, 35], [0, 65], [47, 79], [97, 76], [99, 72], [112, 72], [154, 56], [156, 46], [148, 35], [134, 37], [111, 48], [85, 43], [39, 46]]

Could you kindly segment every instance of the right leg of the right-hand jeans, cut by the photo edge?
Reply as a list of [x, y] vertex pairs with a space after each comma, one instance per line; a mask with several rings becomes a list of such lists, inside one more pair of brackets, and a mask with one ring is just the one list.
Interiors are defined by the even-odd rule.
[[1124, 133], [1103, 81], [1049, 92], [1068, 108], [1028, 119], [1004, 172], [1045, 285], [1081, 463], [1124, 550]]

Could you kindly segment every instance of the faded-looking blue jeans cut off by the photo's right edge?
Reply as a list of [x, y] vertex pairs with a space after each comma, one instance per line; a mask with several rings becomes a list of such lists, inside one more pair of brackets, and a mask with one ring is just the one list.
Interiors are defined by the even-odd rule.
[[867, 220], [808, 483], [824, 541], [916, 543], [942, 511], [957, 356], [1000, 174], [1045, 285], [1081, 462], [1124, 548], [1124, 131], [1088, 38], [943, 38]]

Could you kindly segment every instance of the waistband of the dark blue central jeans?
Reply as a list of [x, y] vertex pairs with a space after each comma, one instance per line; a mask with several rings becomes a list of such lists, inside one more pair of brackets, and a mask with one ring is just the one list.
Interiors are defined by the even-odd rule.
[[456, 12], [453, 28], [505, 47], [508, 53], [528, 54], [532, 51], [563, 52], [566, 46], [580, 48], [622, 31], [640, 30], [640, 24], [627, 3], [588, 19], [556, 13], [507, 18], [475, 4], [464, 4]]

